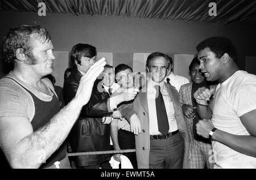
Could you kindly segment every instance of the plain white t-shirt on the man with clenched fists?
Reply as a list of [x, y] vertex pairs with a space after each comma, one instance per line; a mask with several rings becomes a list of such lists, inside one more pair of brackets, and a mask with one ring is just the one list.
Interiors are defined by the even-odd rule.
[[[256, 76], [246, 71], [237, 71], [216, 88], [212, 123], [214, 127], [230, 134], [250, 135], [240, 117], [254, 109]], [[255, 157], [243, 155], [216, 141], [212, 141], [212, 147], [216, 160], [214, 168], [256, 168]]]

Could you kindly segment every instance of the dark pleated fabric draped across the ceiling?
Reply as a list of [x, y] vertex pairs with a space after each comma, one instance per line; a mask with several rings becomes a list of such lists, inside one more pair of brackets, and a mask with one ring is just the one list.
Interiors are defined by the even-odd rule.
[[[49, 13], [256, 24], [255, 0], [2, 0], [0, 10], [37, 12], [39, 2]], [[209, 16], [210, 2], [217, 16]]]

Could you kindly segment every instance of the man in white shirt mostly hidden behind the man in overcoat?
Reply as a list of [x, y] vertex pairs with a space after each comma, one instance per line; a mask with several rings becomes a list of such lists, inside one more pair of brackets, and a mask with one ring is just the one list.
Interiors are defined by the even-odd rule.
[[170, 56], [168, 56], [168, 59], [170, 61], [170, 68], [168, 68], [168, 71], [167, 71], [167, 74], [166, 74], [166, 78], [164, 79], [164, 82], [167, 82], [167, 80], [168, 80], [170, 82], [170, 84], [172, 86], [174, 86], [177, 89], [177, 91], [179, 92], [181, 85], [189, 83], [189, 80], [187, 78], [183, 77], [183, 76], [175, 75], [172, 72], [172, 68], [174, 67], [173, 66], [174, 63], [172, 62], [172, 58]]

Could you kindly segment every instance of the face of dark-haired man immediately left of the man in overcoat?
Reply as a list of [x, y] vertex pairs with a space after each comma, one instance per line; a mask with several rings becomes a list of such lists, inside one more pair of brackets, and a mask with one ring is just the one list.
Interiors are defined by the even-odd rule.
[[118, 72], [115, 79], [122, 88], [126, 89], [133, 87], [133, 71], [131, 71], [130, 68]]

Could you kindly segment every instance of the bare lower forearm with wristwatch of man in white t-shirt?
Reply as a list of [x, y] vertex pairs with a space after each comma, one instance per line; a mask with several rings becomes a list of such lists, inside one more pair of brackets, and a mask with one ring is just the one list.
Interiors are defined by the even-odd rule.
[[256, 137], [250, 135], [233, 135], [228, 132], [216, 130], [213, 140], [225, 144], [231, 149], [248, 156], [256, 157]]

